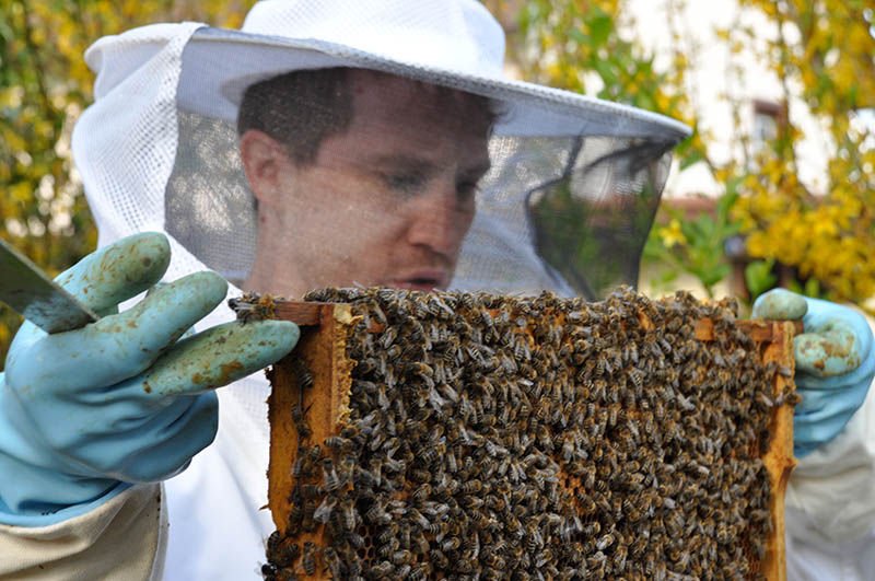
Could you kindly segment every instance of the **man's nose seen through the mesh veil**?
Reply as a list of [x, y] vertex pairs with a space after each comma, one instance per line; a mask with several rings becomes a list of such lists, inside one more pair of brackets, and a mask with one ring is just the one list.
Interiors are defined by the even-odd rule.
[[423, 196], [415, 209], [408, 230], [408, 241], [445, 256], [454, 256], [474, 217], [474, 205], [462, 204], [455, 193], [433, 193]]

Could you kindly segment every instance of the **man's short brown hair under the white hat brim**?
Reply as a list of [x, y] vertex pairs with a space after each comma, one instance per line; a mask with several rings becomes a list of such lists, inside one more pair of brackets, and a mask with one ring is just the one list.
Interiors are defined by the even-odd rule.
[[[298, 165], [316, 160], [324, 139], [343, 132], [352, 120], [353, 94], [348, 67], [298, 70], [249, 85], [237, 114], [237, 135], [264, 131], [288, 148]], [[388, 74], [369, 71], [373, 74]], [[421, 81], [410, 81], [421, 83]], [[424, 84], [424, 83], [422, 83]], [[438, 86], [435, 94], [453, 112], [476, 115], [488, 133], [499, 117], [492, 101], [464, 93], [464, 103], [453, 89]]]

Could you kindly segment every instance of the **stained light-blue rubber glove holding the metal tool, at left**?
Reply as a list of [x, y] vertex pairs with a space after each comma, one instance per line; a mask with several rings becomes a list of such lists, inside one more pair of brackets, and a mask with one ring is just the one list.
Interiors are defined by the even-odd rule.
[[57, 279], [103, 318], [55, 335], [22, 325], [0, 374], [0, 522], [52, 524], [177, 474], [215, 437], [212, 390], [294, 347], [298, 327], [279, 321], [179, 340], [224, 300], [213, 272], [162, 284], [117, 314], [168, 264], [162, 234], [119, 241]]

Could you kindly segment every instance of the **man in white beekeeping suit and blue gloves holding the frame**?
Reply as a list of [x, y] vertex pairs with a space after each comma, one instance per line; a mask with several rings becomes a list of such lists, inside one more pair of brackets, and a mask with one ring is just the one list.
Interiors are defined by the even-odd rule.
[[[58, 280], [103, 318], [55, 336], [25, 323], [10, 349], [0, 576], [259, 576], [269, 386], [250, 374], [298, 329], [231, 322], [222, 303], [241, 289], [594, 300], [635, 281], [688, 129], [510, 80], [503, 53], [475, 0], [264, 0], [240, 31], [160, 24], [89, 49], [95, 103], [73, 154], [101, 248]], [[757, 313], [804, 315], [809, 332], [791, 577], [864, 578], [872, 334], [850, 309], [790, 293]]]

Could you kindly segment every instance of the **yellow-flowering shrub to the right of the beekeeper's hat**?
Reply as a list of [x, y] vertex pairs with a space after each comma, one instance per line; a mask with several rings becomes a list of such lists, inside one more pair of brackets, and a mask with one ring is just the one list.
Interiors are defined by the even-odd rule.
[[[742, 155], [728, 162], [711, 153], [713, 136], [700, 131], [698, 123], [702, 105], [688, 97], [695, 55], [675, 22], [685, 0], [667, 0], [664, 14], [635, 14], [627, 0], [486, 3], [515, 23], [510, 55], [526, 80], [643, 107], [693, 129], [676, 149], [675, 171], [704, 164], [723, 193], [713, 209], [692, 217], [663, 204], [645, 260], [662, 263], [666, 279], [692, 275], [711, 295], [731, 271], [726, 244], [740, 239], [743, 286], [734, 290], [742, 299], [750, 302], [781, 283], [865, 309], [875, 294], [870, 251], [875, 247], [875, 135], [854, 120], [875, 107], [871, 0], [737, 0], [765, 19], [773, 38], [739, 23], [716, 31], [716, 37], [733, 55], [754, 51], [784, 94], [775, 136], [765, 147], [745, 133], [740, 104], [733, 104]], [[642, 26], [669, 31], [670, 67], [653, 67], [654, 55], [634, 36]], [[805, 135], [789, 104], [800, 100], [835, 144], [820, 191], [809, 191], [796, 178]]]

